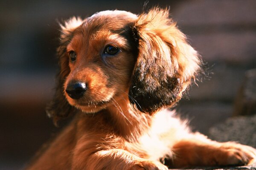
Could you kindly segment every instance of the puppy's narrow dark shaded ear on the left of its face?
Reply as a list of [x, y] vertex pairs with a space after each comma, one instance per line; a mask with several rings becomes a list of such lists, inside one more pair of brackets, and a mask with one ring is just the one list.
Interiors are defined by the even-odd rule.
[[64, 96], [64, 81], [70, 73], [69, 57], [67, 55], [67, 45], [73, 37], [73, 31], [80, 26], [82, 20], [80, 18], [70, 18], [61, 26], [60, 46], [57, 48], [58, 64], [60, 71], [56, 77], [55, 95], [52, 101], [47, 105], [46, 111], [49, 117], [56, 122], [67, 117], [75, 108], [71, 106]]

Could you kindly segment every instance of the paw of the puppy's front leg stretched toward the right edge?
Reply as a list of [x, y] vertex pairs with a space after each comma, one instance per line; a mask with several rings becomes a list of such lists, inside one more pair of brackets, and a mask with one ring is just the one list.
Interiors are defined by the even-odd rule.
[[242, 144], [226, 142], [215, 153], [218, 165], [246, 165], [256, 161], [256, 149]]

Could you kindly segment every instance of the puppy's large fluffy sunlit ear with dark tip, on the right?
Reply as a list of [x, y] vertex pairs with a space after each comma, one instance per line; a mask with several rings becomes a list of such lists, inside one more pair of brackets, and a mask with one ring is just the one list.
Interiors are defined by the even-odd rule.
[[129, 99], [134, 108], [154, 113], [180, 100], [200, 70], [198, 53], [169, 18], [169, 10], [153, 8], [134, 25], [138, 37]]

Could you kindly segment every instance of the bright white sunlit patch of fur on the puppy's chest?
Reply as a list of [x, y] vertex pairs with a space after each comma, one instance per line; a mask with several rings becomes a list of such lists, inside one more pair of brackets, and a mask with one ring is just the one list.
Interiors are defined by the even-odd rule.
[[159, 160], [172, 156], [172, 146], [181, 136], [187, 135], [186, 124], [173, 117], [174, 111], [164, 110], [153, 118], [151, 128], [139, 138], [140, 150], [149, 159]]

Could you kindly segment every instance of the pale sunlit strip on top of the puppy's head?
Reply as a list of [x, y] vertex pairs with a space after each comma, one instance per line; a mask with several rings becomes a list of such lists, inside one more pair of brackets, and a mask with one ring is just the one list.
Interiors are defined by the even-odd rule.
[[130, 19], [137, 19], [137, 15], [133, 14], [128, 11], [119, 11], [119, 10], [107, 10], [107, 11], [100, 11], [95, 14], [93, 14], [90, 18], [95, 18], [95, 17], [128, 17]]

